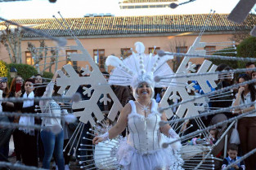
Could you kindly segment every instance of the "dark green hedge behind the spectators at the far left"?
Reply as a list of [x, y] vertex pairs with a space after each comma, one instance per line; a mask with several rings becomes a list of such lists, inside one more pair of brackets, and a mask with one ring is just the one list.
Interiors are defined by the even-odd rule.
[[[31, 76], [36, 75], [38, 72], [36, 71], [35, 68], [32, 66], [29, 66], [24, 63], [9, 63], [7, 64], [8, 70], [11, 69], [11, 67], [16, 68], [17, 70], [17, 75], [21, 76], [24, 80], [30, 78]], [[8, 83], [11, 83], [11, 76], [10, 72], [8, 72]]]

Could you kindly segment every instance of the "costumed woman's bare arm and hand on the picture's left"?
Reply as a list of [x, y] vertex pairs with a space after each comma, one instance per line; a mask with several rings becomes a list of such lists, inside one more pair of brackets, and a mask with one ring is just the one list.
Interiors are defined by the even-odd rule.
[[[132, 107], [130, 103], [126, 104], [123, 110], [121, 111], [119, 120], [117, 121], [115, 126], [113, 126], [113, 128], [111, 128], [109, 132], [107, 132], [108, 134], [105, 134], [105, 135], [108, 135], [107, 136], [108, 138], [110, 139], [115, 138], [116, 136], [118, 136], [120, 133], [124, 131], [124, 129], [127, 127], [127, 124], [128, 124], [128, 114], [131, 111], [132, 111]], [[104, 141], [104, 137], [97, 136], [93, 138], [92, 143], [98, 144], [99, 142], [102, 142], [102, 141]]]

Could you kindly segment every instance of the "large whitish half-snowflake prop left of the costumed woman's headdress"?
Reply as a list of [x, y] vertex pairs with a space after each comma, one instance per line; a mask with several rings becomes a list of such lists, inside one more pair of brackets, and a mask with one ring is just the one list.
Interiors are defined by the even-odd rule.
[[[70, 64], [65, 65], [63, 68], [65, 69], [65, 72], [68, 76], [66, 76], [64, 72], [59, 72], [61, 77], [56, 79], [56, 85], [61, 86], [61, 89], [58, 91], [58, 93], [63, 94], [66, 87], [70, 86], [65, 94], [65, 96], [70, 97], [76, 93], [76, 91], [79, 89], [79, 85], [91, 85], [90, 88], [83, 87], [83, 94], [88, 94], [88, 97], [91, 98], [89, 100], [82, 100], [80, 102], [73, 103], [73, 109], [83, 109], [83, 111], [74, 112], [74, 115], [80, 117], [79, 120], [84, 124], [87, 124], [89, 121], [90, 124], [94, 125], [95, 120], [92, 116], [92, 113], [94, 114], [97, 121], [104, 119], [104, 115], [97, 105], [97, 102], [103, 102], [104, 105], [107, 105], [108, 102], [113, 100], [114, 104], [110, 109], [108, 118], [110, 120], [115, 120], [118, 111], [121, 111], [123, 108], [119, 102], [119, 99], [115, 96], [113, 90], [110, 88], [110, 85], [107, 84], [106, 79], [101, 74], [97, 64], [92, 60], [90, 54], [88, 54], [88, 51], [84, 49], [83, 45], [78, 39], [75, 41], [77, 46], [70, 46], [70, 50], [78, 50], [81, 51], [81, 53], [70, 54], [70, 59], [72, 61], [88, 62], [92, 67], [92, 71], [89, 70], [89, 66], [87, 65], [86, 68], [82, 68], [83, 76], [79, 76]], [[89, 76], [84, 76], [85, 74], [89, 74]], [[103, 98], [101, 98], [102, 94]], [[108, 96], [110, 96], [110, 98]]]

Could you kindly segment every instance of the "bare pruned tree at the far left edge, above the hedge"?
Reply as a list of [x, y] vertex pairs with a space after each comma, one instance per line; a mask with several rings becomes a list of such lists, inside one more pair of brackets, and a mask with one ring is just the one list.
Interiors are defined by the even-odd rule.
[[21, 57], [21, 38], [23, 36], [23, 30], [18, 28], [11, 28], [9, 24], [2, 24], [0, 31], [0, 42], [6, 47], [9, 54], [11, 63], [22, 63]]

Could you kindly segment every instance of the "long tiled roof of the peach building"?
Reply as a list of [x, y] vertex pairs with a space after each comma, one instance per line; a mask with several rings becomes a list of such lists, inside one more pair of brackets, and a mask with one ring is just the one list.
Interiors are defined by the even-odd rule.
[[[76, 36], [101, 36], [150, 33], [187, 33], [200, 32], [208, 14], [198, 15], [153, 15], [119, 17], [85, 17], [65, 19]], [[70, 34], [55, 19], [11, 20], [17, 24], [31, 25], [43, 33], [54, 37]], [[3, 22], [2, 22], [3, 23]], [[1, 24], [1, 23], [0, 23]], [[206, 32], [227, 32], [250, 30], [256, 24], [256, 15], [249, 15], [244, 24], [227, 20], [227, 14], [215, 14]], [[25, 37], [38, 37], [25, 33]]]

